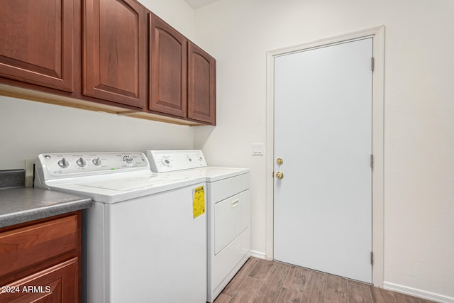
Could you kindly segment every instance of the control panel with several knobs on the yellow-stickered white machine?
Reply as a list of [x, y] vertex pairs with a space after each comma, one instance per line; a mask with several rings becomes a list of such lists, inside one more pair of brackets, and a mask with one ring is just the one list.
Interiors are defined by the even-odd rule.
[[143, 153], [44, 153], [38, 162], [55, 176], [150, 169]]

